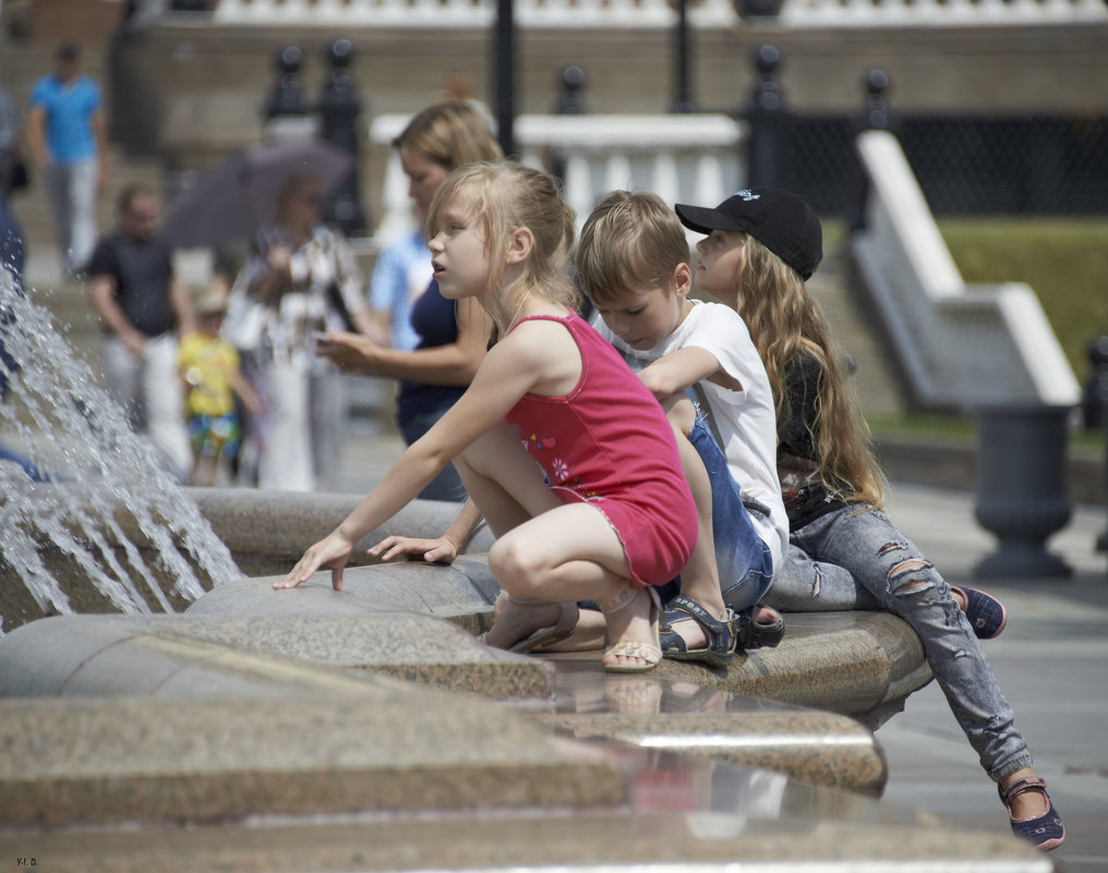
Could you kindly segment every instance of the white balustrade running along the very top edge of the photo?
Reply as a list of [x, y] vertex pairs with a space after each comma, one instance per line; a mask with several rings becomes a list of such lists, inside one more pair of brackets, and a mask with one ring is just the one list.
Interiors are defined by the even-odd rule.
[[[145, 0], [151, 4], [164, 0]], [[219, 0], [219, 24], [372, 28], [488, 28], [495, 0]], [[693, 28], [735, 27], [731, 0], [689, 0]], [[521, 28], [670, 28], [671, 0], [516, 0]], [[834, 27], [1034, 25], [1106, 21], [1104, 0], [783, 0], [776, 23]]]

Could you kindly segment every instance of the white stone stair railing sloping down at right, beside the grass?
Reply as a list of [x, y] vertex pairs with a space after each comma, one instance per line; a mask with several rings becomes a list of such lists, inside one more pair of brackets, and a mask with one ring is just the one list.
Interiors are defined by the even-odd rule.
[[858, 138], [870, 179], [854, 258], [892, 346], [925, 407], [1069, 405], [1081, 391], [1035, 292], [966, 286], [896, 138]]

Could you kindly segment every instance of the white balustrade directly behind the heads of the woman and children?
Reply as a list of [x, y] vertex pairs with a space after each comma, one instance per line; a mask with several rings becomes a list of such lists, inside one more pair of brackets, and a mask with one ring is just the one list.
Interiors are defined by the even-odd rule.
[[[378, 115], [370, 123], [375, 147], [388, 147], [410, 115]], [[615, 188], [653, 191], [666, 203], [716, 204], [746, 179], [740, 148], [746, 122], [728, 115], [520, 115], [513, 136], [520, 160], [551, 170], [564, 167], [565, 196], [577, 227], [596, 201]], [[373, 245], [412, 224], [408, 177], [390, 148], [382, 183], [381, 222]]]

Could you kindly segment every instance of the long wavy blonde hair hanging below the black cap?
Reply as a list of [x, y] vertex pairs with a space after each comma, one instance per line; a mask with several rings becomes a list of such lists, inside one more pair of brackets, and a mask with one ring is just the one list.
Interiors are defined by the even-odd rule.
[[819, 427], [811, 434], [820, 480], [845, 500], [880, 507], [885, 479], [848, 378], [847, 357], [831, 336], [823, 309], [800, 274], [756, 238], [742, 234], [742, 247], [736, 308], [766, 364], [778, 423], [793, 412], [787, 390], [790, 369], [810, 356], [820, 371], [815, 398]]

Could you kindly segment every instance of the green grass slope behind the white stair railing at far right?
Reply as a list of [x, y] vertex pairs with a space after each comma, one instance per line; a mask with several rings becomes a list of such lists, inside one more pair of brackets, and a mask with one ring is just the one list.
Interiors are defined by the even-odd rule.
[[938, 229], [966, 283], [1032, 287], [1084, 384], [1089, 343], [1108, 333], [1108, 217], [950, 218]]

